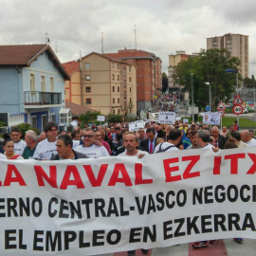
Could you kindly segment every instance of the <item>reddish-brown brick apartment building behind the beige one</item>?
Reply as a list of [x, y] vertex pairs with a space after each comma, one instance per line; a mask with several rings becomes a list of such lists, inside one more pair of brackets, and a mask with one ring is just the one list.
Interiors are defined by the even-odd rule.
[[137, 66], [137, 110], [153, 107], [155, 95], [162, 89], [161, 59], [152, 52], [137, 49], [122, 49], [118, 53], [104, 54], [110, 58], [133, 61]]

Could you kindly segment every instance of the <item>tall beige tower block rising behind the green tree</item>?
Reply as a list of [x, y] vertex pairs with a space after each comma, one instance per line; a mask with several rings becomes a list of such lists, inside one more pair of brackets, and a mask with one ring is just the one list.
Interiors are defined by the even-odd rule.
[[248, 36], [241, 34], [225, 34], [224, 36], [215, 36], [207, 38], [207, 48], [226, 48], [231, 56], [238, 57], [241, 61], [239, 68], [240, 74], [246, 78], [249, 73], [249, 47]]

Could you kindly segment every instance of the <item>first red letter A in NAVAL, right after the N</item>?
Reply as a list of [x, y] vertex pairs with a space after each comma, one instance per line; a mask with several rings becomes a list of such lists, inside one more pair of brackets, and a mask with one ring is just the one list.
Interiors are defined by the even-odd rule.
[[[73, 174], [74, 179], [70, 179], [71, 174]], [[82, 184], [82, 178], [79, 174], [78, 169], [74, 165], [68, 165], [64, 173], [64, 179], [62, 181], [61, 190], [66, 190], [67, 186], [77, 186], [78, 189], [84, 189]]]

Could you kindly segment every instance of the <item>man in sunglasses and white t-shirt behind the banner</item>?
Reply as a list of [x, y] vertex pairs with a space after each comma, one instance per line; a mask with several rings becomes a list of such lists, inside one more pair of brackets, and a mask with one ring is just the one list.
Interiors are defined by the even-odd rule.
[[83, 145], [76, 147], [76, 152], [82, 153], [89, 158], [99, 158], [102, 156], [109, 156], [105, 147], [95, 139], [94, 131], [91, 128], [85, 128], [82, 134]]

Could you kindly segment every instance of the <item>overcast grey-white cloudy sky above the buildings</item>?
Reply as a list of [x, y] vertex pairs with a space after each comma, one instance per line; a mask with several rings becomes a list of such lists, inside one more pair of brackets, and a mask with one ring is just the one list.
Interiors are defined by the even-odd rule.
[[0, 44], [44, 44], [46, 32], [62, 63], [124, 47], [168, 55], [206, 48], [206, 38], [249, 36], [250, 75], [256, 74], [256, 1], [252, 0], [0, 0]]

